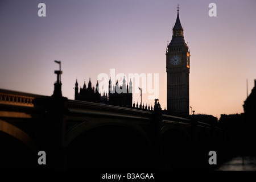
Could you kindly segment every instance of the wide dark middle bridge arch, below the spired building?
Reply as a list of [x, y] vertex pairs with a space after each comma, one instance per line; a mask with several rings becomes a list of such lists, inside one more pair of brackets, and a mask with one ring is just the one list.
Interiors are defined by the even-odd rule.
[[68, 169], [139, 169], [148, 167], [151, 144], [136, 125], [82, 122], [65, 143]]

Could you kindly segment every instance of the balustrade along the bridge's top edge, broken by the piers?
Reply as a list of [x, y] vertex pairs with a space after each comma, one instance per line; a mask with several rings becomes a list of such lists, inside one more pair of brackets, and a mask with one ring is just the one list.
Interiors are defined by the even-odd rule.
[[[51, 97], [31, 93], [16, 92], [13, 90], [0, 89], [0, 105], [2, 109], [5, 107], [7, 108], [8, 106], [22, 106], [23, 108], [39, 106], [43, 108], [44, 105], [46, 105], [49, 98]], [[130, 117], [137, 119], [141, 118], [147, 120], [150, 120], [152, 118], [152, 114], [154, 114], [152, 111], [138, 110], [133, 109], [132, 107], [127, 108], [76, 100], [68, 100], [68, 110], [69, 112], [83, 114], [105, 114], [115, 116], [119, 115], [122, 117]], [[162, 122], [172, 122], [184, 125], [191, 125], [192, 119], [162, 114]], [[196, 125], [199, 127], [206, 127], [208, 129], [213, 127], [209, 123], [201, 121], [197, 121]], [[216, 129], [222, 130], [219, 127], [216, 127]]]

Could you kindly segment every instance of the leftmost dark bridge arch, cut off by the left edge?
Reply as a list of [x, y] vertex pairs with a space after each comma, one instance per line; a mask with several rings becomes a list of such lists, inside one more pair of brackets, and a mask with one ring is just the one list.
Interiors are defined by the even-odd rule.
[[23, 130], [0, 119], [0, 168], [35, 169], [37, 151], [34, 141]]

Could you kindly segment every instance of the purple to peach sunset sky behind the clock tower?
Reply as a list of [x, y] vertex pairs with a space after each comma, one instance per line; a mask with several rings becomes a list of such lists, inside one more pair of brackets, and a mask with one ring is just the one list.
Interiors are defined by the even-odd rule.
[[[38, 16], [41, 2], [46, 17]], [[212, 2], [216, 17], [208, 15]], [[74, 99], [76, 79], [79, 87], [84, 80], [88, 85], [89, 77], [96, 86], [98, 75], [110, 75], [110, 69], [127, 77], [152, 73], [159, 75], [164, 109], [165, 53], [177, 4], [191, 52], [189, 105], [195, 114], [218, 118], [243, 113], [246, 79], [250, 94], [256, 78], [255, 0], [2, 0], [0, 88], [51, 96], [59, 69], [54, 60], [60, 60], [64, 97]], [[133, 92], [138, 92], [133, 94], [136, 104], [141, 97], [135, 86]], [[154, 104], [148, 90], [143, 92], [144, 104]]]

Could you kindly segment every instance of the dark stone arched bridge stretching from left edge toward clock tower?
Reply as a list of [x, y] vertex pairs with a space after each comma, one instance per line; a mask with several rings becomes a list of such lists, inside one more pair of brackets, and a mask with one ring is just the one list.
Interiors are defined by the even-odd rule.
[[192, 117], [0, 89], [3, 169], [190, 169], [223, 138]]

